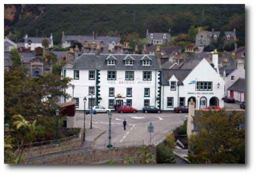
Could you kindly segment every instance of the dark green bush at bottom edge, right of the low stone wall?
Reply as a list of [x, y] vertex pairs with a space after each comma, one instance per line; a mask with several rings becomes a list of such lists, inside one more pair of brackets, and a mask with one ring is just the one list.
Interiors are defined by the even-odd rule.
[[164, 143], [157, 146], [157, 163], [176, 163], [173, 150]]

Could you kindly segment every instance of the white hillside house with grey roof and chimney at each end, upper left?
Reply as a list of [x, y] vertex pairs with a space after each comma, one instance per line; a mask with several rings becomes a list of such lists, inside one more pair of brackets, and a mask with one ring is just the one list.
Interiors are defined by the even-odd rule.
[[36, 47], [43, 47], [42, 41], [44, 39], [48, 40], [49, 47], [53, 47], [53, 36], [50, 37], [30, 37], [28, 34], [25, 35], [24, 46], [29, 48], [31, 51], [35, 50]]

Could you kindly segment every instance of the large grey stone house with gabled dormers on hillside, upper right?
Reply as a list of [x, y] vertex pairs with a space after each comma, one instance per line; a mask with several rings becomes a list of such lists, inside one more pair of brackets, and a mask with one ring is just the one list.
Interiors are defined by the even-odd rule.
[[[220, 31], [207, 31], [207, 30], [198, 30], [196, 35], [196, 46], [207, 46], [210, 45], [213, 41], [217, 41], [219, 38]], [[236, 41], [236, 32], [225, 31], [225, 40], [224, 43]]]

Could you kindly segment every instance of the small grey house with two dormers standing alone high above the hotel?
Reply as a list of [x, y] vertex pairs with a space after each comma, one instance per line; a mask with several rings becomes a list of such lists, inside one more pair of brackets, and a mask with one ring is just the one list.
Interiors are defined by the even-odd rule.
[[164, 33], [149, 32], [149, 29], [147, 29], [146, 38], [147, 38], [148, 44], [159, 45], [159, 44], [169, 42], [171, 39], [171, 34], [169, 32], [164, 32]]

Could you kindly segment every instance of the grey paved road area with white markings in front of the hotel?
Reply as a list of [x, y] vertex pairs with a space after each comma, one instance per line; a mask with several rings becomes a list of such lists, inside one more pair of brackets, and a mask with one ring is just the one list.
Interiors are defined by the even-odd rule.
[[[75, 115], [75, 126], [83, 127], [83, 112], [77, 111]], [[150, 133], [148, 125], [150, 122], [154, 125], [152, 133], [152, 143], [163, 139], [167, 133], [180, 126], [188, 113], [112, 113], [111, 119], [111, 141], [114, 146], [129, 146], [134, 144], [149, 144]], [[86, 129], [90, 127], [90, 115], [85, 116]], [[123, 129], [123, 120], [127, 121], [126, 130]], [[108, 144], [108, 114], [97, 113], [92, 115], [92, 127], [97, 130], [105, 130], [99, 136], [94, 144], [97, 148], [103, 148]], [[98, 132], [97, 132], [98, 133]], [[92, 133], [93, 134], [93, 133]], [[96, 132], [95, 132], [96, 134]], [[91, 136], [91, 135], [90, 135]], [[96, 135], [93, 135], [97, 137]]]

